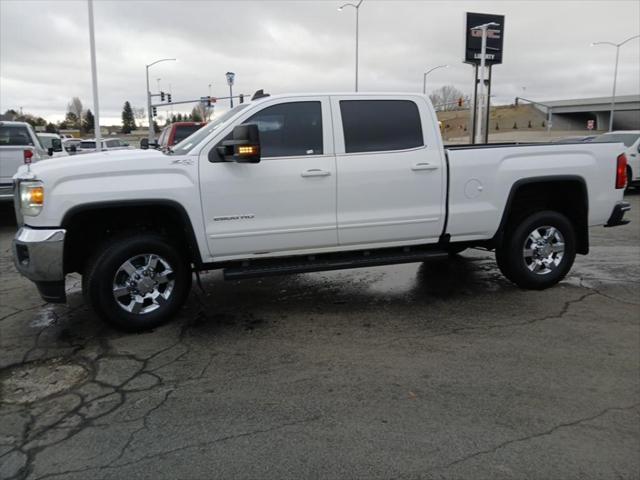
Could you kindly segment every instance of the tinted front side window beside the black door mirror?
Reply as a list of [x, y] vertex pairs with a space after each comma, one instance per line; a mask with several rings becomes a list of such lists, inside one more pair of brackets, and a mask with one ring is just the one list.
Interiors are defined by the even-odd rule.
[[273, 105], [259, 111], [244, 123], [258, 126], [263, 158], [323, 153], [321, 102]]

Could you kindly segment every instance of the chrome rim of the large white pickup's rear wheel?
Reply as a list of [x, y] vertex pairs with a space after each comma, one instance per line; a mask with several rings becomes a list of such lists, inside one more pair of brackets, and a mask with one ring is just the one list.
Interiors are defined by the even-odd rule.
[[536, 227], [524, 241], [522, 257], [529, 271], [548, 275], [556, 270], [564, 257], [564, 237], [551, 226]]

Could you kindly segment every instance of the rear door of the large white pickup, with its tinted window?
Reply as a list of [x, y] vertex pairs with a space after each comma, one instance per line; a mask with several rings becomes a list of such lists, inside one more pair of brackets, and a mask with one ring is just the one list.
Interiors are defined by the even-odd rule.
[[446, 169], [425, 98], [332, 96], [331, 110], [339, 244], [437, 241]]

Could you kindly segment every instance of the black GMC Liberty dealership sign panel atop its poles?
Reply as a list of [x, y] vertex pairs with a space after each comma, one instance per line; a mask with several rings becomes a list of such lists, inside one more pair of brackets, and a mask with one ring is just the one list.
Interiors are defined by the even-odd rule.
[[497, 27], [487, 30], [487, 55], [485, 63], [497, 65], [502, 63], [502, 46], [504, 43], [504, 15], [491, 15], [488, 13], [467, 12], [466, 34], [465, 34], [465, 55], [464, 63], [480, 64], [480, 50], [482, 48], [482, 32], [480, 30], [471, 31], [473, 27], [485, 23], [495, 22]]

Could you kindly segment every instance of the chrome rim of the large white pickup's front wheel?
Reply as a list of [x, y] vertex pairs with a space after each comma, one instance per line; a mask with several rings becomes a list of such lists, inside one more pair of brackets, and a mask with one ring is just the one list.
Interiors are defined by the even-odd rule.
[[175, 274], [160, 255], [143, 253], [127, 259], [113, 277], [113, 298], [129, 313], [144, 315], [164, 305], [175, 287]]

